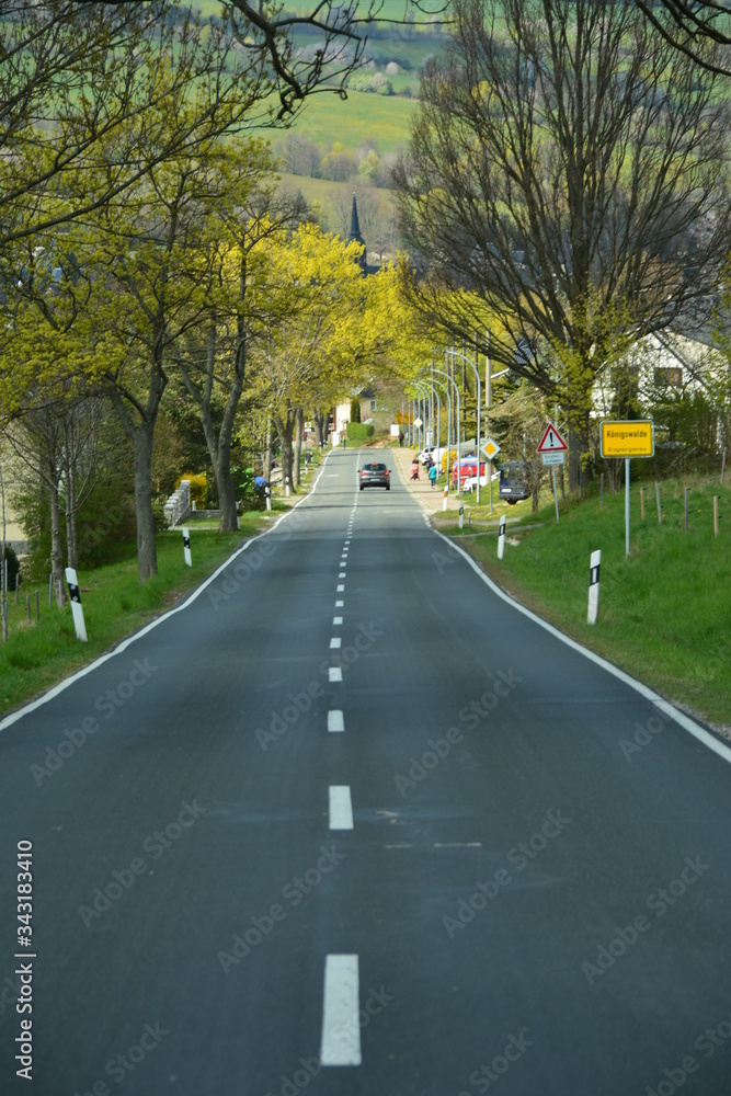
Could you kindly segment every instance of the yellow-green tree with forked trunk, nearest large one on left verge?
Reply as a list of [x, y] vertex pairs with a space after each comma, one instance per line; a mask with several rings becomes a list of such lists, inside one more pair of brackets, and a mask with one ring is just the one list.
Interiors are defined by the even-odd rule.
[[[11, 312], [22, 295], [57, 335], [75, 328], [83, 347], [77, 372], [85, 368], [108, 396], [133, 444], [140, 581], [157, 571], [151, 455], [172, 347], [209, 305], [215, 249], [207, 225], [217, 192], [207, 189], [203, 164], [224, 135], [251, 126], [271, 87], [261, 72], [242, 70], [235, 39], [224, 31], [212, 27], [203, 41], [193, 36], [198, 53], [181, 47], [174, 62], [141, 50], [134, 73], [122, 72], [115, 91], [146, 109], [130, 111], [105, 140], [98, 134], [83, 170], [77, 164], [49, 173], [41, 220], [34, 221], [33, 209], [23, 215], [36, 227], [45, 224], [46, 233], [33, 240], [16, 235], [14, 260], [25, 248], [24, 274], [20, 286], [11, 276], [5, 283]], [[39, 158], [62, 153], [79, 128], [70, 111], [55, 127], [56, 144], [43, 147]], [[119, 163], [135, 165], [124, 186]], [[52, 225], [64, 225], [64, 232], [52, 232]], [[50, 287], [47, 272], [43, 279], [32, 276], [46, 244], [61, 274]], [[0, 384], [15, 393], [34, 376], [32, 358], [16, 365], [0, 367]]]

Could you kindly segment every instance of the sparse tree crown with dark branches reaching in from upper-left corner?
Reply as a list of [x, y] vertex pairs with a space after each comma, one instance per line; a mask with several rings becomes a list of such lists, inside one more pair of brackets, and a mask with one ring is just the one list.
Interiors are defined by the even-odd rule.
[[[193, 153], [202, 122], [233, 128], [245, 116], [248, 125], [250, 89], [263, 100], [273, 84], [235, 50], [237, 33], [230, 21], [204, 20], [172, 0], [3, 4], [0, 260], [16, 271], [18, 241], [37, 246], [52, 229], [136, 185], [155, 164]], [[186, 100], [198, 107], [187, 125], [136, 141], [145, 118], [172, 117]], [[238, 116], [225, 110], [232, 103]], [[91, 170], [95, 185], [83, 186]], [[73, 201], [59, 202], [59, 194]]]

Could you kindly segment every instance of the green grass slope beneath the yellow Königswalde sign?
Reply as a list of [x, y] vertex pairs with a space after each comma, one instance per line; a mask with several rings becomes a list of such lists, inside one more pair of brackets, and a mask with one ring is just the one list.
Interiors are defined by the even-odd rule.
[[[630, 555], [625, 555], [625, 495], [592, 493], [538, 514], [529, 503], [509, 507], [521, 522], [507, 527], [503, 560], [494, 536], [466, 536], [454, 517], [438, 527], [459, 540], [484, 570], [518, 601], [659, 693], [717, 724], [731, 724], [731, 484], [718, 478], [664, 480], [662, 525], [654, 486], [631, 486]], [[689, 529], [684, 529], [684, 487], [690, 488]], [[713, 535], [712, 496], [719, 495], [720, 534]], [[472, 532], [484, 505], [471, 509]], [[502, 510], [502, 505], [501, 505]], [[495, 507], [496, 514], [500, 512]], [[542, 522], [542, 526], [523, 526]], [[591, 552], [602, 549], [599, 618], [586, 623]]]

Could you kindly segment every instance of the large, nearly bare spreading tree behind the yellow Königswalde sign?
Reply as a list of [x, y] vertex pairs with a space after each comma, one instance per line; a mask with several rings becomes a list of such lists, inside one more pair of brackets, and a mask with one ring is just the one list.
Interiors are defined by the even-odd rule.
[[620, 0], [458, 0], [455, 19], [395, 173], [425, 270], [411, 290], [452, 339], [482, 332], [482, 352], [498, 318], [493, 359], [561, 402], [575, 484], [597, 374], [712, 306], [728, 103]]

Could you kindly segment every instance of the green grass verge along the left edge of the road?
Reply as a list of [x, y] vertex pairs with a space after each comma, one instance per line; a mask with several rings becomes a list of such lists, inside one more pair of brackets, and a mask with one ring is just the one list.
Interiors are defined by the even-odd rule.
[[[0, 712], [7, 712], [75, 670], [108, 650], [124, 636], [135, 631], [152, 617], [170, 608], [222, 562], [244, 539], [263, 528], [276, 516], [249, 511], [241, 515], [238, 533], [219, 534], [217, 523], [191, 517], [193, 567], [183, 563], [183, 538], [180, 529], [160, 533], [157, 538], [158, 573], [142, 585], [137, 580], [137, 557], [134, 545], [128, 558], [81, 572], [88, 643], [76, 638], [70, 606], [58, 610], [48, 607], [47, 586], [41, 591], [41, 620], [35, 623], [35, 589], [31, 586], [33, 621], [28, 624], [25, 596], [21, 586], [20, 604], [10, 594], [8, 605], [9, 637], [0, 644]], [[288, 509], [281, 504], [282, 510]], [[30, 584], [28, 584], [30, 585]]]

